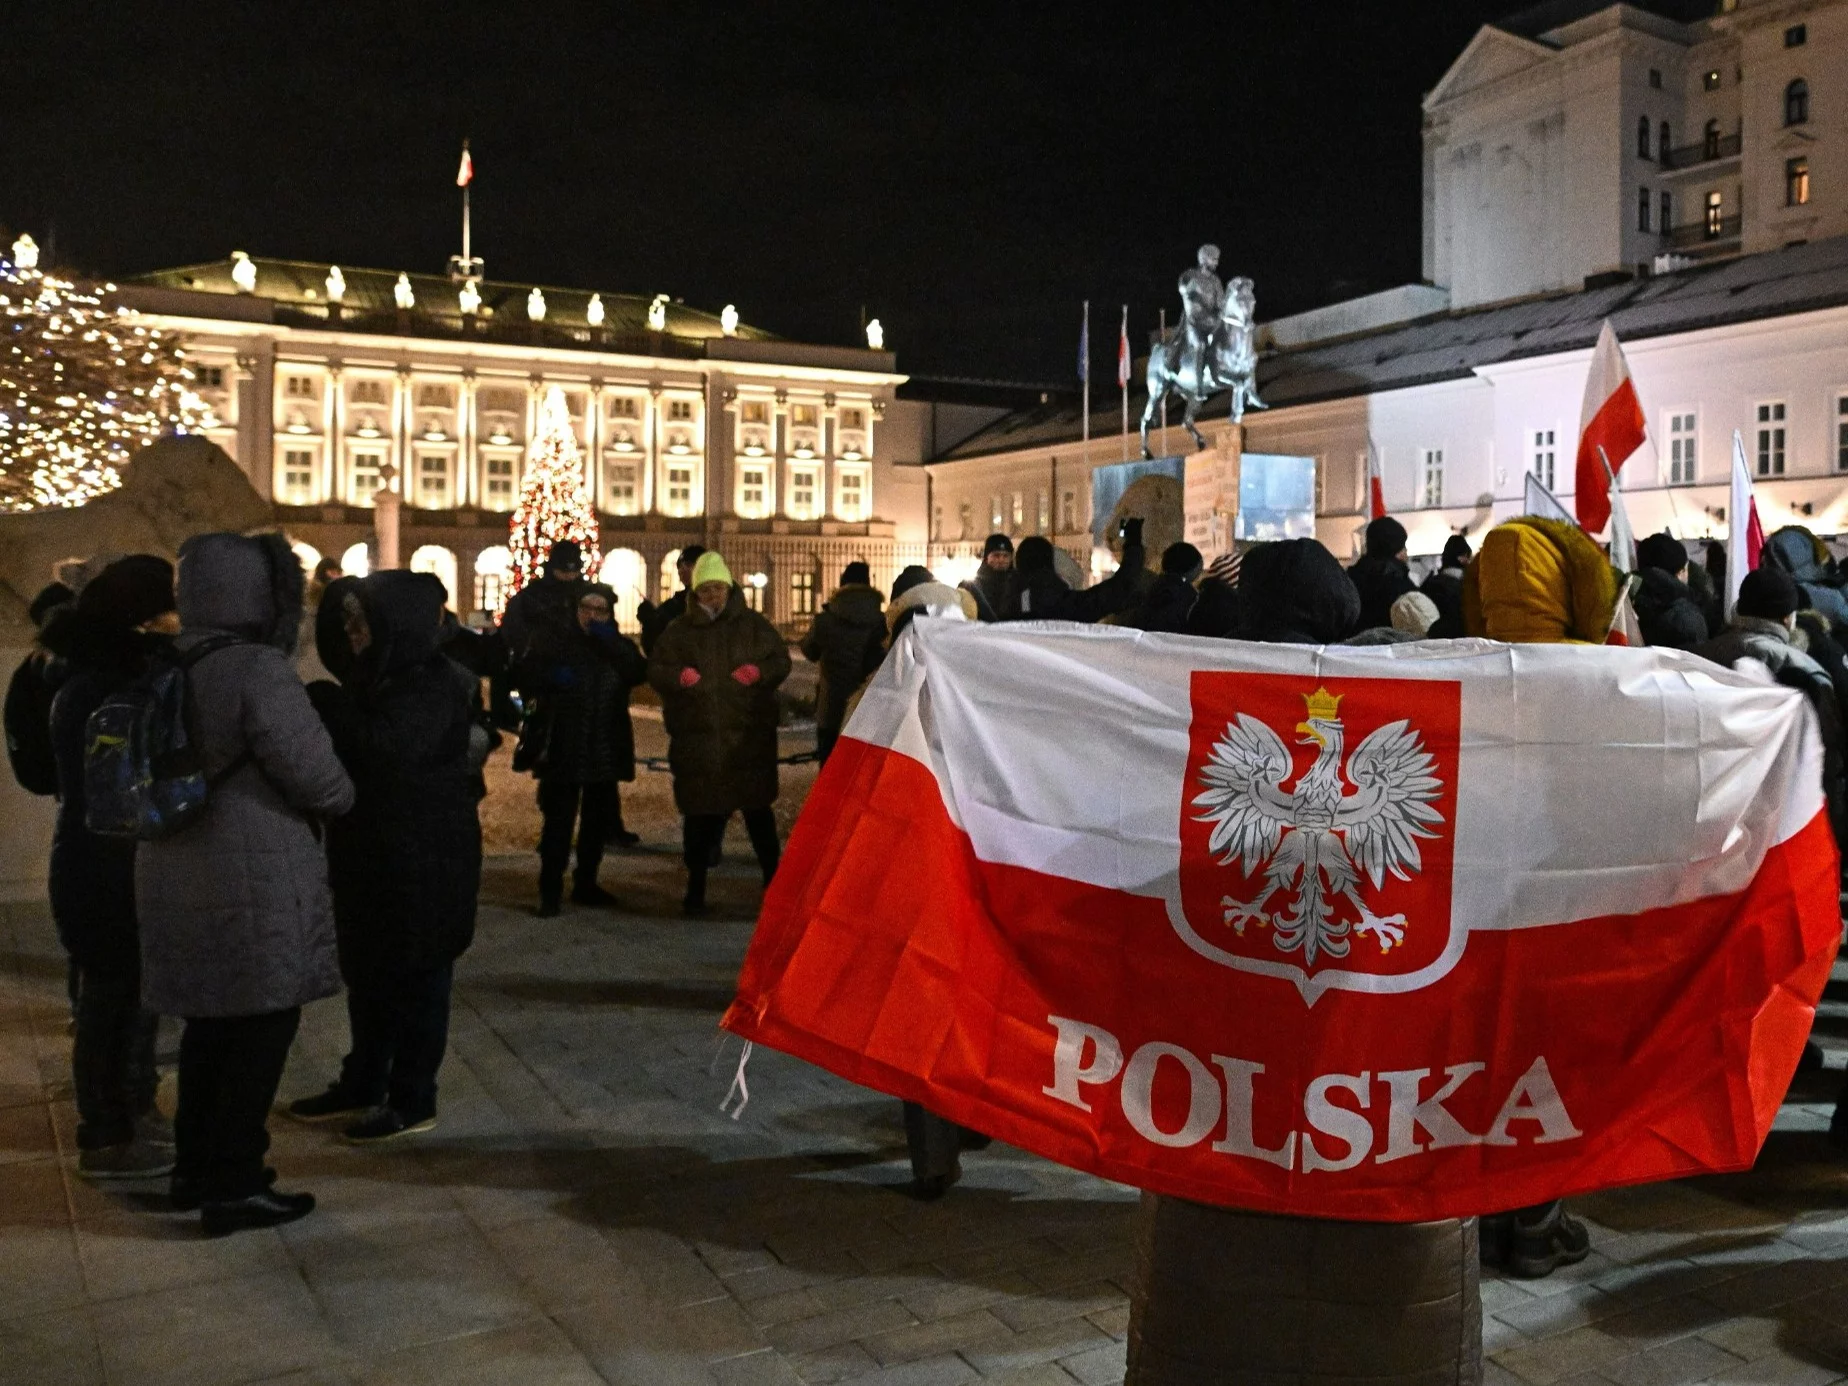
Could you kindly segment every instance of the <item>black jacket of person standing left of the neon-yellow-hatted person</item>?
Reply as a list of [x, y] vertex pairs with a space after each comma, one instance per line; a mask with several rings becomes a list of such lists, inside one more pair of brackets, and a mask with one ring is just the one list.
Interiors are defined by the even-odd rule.
[[634, 780], [628, 695], [647, 676], [649, 662], [614, 623], [586, 634], [573, 617], [538, 638], [519, 667], [532, 700], [523, 739], [536, 741], [534, 772], [571, 784]]

